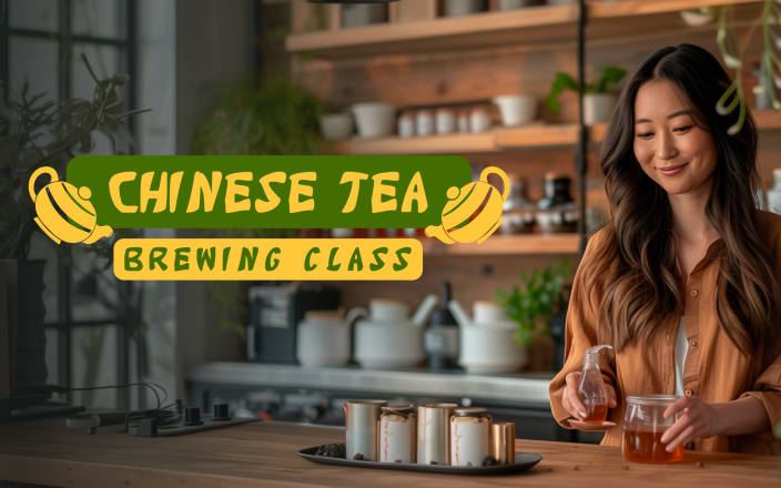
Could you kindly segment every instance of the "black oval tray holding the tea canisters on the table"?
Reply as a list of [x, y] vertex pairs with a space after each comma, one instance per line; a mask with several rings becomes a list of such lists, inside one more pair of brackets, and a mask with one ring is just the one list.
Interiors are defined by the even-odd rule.
[[312, 462], [335, 466], [352, 466], [358, 468], [397, 469], [403, 471], [443, 472], [447, 475], [509, 475], [526, 471], [542, 459], [542, 456], [532, 453], [516, 453], [515, 462], [497, 466], [449, 466], [449, 465], [418, 465], [416, 462], [378, 462], [357, 461], [354, 459], [331, 456], [317, 456], [320, 446], [301, 449], [297, 454]]

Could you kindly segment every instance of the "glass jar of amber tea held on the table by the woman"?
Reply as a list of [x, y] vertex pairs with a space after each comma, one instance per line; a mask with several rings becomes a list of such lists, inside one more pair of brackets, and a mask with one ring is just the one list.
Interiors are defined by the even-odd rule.
[[665, 418], [665, 410], [678, 397], [672, 395], [629, 395], [623, 413], [623, 457], [635, 462], [677, 462], [683, 459], [683, 446], [668, 453], [661, 436], [677, 416]]

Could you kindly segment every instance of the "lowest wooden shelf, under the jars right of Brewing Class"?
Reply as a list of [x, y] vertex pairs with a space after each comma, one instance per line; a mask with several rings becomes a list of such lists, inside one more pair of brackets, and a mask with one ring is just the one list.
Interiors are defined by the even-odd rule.
[[493, 235], [481, 244], [444, 244], [435, 238], [423, 241], [425, 255], [507, 255], [578, 254], [578, 234]]

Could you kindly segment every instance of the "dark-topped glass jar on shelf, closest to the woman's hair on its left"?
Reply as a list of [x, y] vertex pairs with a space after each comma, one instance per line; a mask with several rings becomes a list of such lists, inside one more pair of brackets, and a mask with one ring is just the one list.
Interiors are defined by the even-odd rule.
[[537, 225], [542, 234], [578, 231], [580, 212], [569, 189], [572, 180], [554, 173], [545, 175], [545, 196], [537, 202]]

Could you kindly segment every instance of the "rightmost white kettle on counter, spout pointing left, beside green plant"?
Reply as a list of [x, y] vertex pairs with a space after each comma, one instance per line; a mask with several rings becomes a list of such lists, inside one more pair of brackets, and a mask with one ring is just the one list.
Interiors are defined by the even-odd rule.
[[507, 318], [504, 308], [493, 302], [477, 301], [473, 319], [455, 299], [447, 307], [460, 329], [458, 364], [467, 372], [513, 373], [526, 365], [526, 347], [516, 340], [518, 325]]

